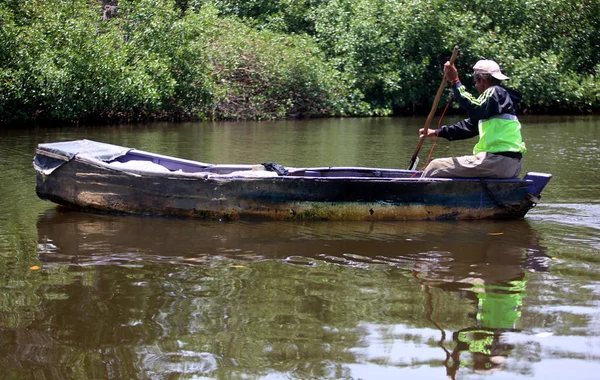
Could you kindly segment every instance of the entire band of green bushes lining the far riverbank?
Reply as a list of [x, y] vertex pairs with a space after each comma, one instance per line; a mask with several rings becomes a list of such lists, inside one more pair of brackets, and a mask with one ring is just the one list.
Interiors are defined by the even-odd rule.
[[0, 122], [426, 113], [459, 44], [522, 111], [600, 109], [597, 0], [5, 0]]

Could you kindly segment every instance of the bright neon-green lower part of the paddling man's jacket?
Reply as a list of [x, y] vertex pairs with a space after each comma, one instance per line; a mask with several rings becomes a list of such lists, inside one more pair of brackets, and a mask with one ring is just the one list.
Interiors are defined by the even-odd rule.
[[481, 152], [525, 153], [527, 148], [521, 138], [521, 123], [515, 115], [503, 113], [485, 120], [479, 120], [479, 142], [473, 154]]

